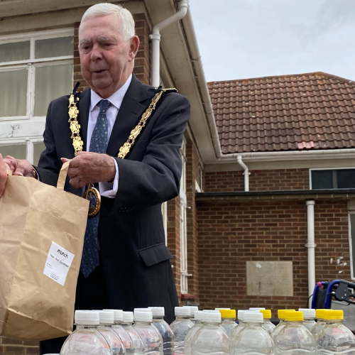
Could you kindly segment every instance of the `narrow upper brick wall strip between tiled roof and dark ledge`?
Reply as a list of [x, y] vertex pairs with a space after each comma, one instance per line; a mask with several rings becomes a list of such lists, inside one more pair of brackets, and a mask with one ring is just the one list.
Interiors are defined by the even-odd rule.
[[[308, 169], [251, 170], [250, 191], [309, 190]], [[243, 171], [205, 173], [204, 192], [244, 191]]]

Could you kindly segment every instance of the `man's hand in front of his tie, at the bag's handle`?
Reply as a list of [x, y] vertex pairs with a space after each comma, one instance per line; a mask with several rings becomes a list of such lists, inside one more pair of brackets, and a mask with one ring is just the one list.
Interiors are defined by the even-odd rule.
[[[63, 163], [68, 160], [62, 158]], [[114, 180], [116, 166], [114, 159], [107, 154], [77, 152], [77, 156], [70, 160], [67, 175], [70, 185], [80, 188], [94, 182]]]

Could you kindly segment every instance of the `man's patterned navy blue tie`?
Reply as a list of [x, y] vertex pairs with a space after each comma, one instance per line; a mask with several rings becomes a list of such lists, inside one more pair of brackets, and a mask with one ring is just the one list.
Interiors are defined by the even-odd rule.
[[[107, 133], [109, 125], [107, 122], [106, 111], [110, 107], [111, 102], [101, 100], [99, 116], [92, 138], [90, 141], [89, 151], [94, 153], [106, 153], [107, 151]], [[84, 249], [82, 250], [82, 263], [80, 271], [84, 278], [87, 278], [97, 266], [99, 266], [99, 215], [87, 218], [87, 229], [85, 231]]]

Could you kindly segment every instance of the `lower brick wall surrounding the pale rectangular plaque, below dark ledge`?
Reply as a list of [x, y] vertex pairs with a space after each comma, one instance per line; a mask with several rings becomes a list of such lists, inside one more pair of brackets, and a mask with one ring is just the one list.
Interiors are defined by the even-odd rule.
[[[305, 307], [307, 209], [305, 201], [198, 202], [198, 266], [203, 308]], [[340, 221], [340, 223], [339, 223]], [[316, 279], [339, 278], [330, 258], [343, 256], [350, 278], [346, 202], [315, 204]], [[246, 261], [293, 261], [293, 297], [246, 296]]]

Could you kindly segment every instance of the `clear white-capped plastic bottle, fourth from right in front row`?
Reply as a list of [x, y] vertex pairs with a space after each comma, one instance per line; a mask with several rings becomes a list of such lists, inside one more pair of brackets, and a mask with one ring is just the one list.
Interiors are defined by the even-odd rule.
[[202, 327], [192, 339], [192, 355], [229, 355], [229, 339], [220, 312], [202, 312]]

